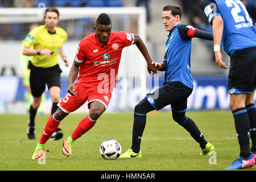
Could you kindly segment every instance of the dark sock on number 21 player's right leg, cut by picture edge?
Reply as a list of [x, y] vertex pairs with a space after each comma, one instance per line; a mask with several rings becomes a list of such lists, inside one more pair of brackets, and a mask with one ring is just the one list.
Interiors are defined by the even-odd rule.
[[250, 120], [250, 135], [256, 135], [256, 107], [254, 104], [245, 106]]

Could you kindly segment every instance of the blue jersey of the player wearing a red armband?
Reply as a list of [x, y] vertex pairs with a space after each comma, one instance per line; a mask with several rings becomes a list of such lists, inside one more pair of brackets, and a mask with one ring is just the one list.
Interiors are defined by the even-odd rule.
[[[191, 38], [187, 37], [189, 28], [189, 26], [177, 24], [168, 35], [166, 55], [163, 59], [163, 61], [167, 63], [164, 81], [180, 81], [193, 89], [190, 64]], [[185, 32], [185, 34], [183, 32]]]

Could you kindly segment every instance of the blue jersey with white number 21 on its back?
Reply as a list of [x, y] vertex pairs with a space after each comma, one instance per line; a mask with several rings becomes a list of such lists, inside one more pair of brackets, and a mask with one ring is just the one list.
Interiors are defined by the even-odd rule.
[[202, 9], [209, 23], [216, 15], [224, 21], [221, 44], [229, 56], [236, 50], [256, 46], [256, 25], [239, 0], [205, 0]]

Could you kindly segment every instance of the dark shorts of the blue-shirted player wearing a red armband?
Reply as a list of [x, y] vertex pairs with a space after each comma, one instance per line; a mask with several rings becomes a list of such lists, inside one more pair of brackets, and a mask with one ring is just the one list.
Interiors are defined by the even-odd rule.
[[192, 91], [179, 81], [165, 82], [155, 92], [146, 94], [146, 99], [156, 110], [171, 105], [172, 110], [181, 113], [187, 110], [187, 99]]

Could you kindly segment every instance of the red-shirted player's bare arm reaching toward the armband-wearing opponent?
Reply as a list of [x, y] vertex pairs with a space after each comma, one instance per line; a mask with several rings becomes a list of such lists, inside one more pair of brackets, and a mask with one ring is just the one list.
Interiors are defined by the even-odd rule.
[[139, 51], [141, 51], [142, 55], [146, 59], [148, 73], [151, 73], [151, 72], [152, 72], [152, 74], [157, 73], [156, 68], [154, 67], [154, 65], [152, 65], [152, 60], [151, 60], [150, 55], [147, 51], [147, 47], [145, 46], [144, 42], [142, 41], [142, 39], [139, 35], [134, 35], [134, 43], [133, 44], [136, 44]]

